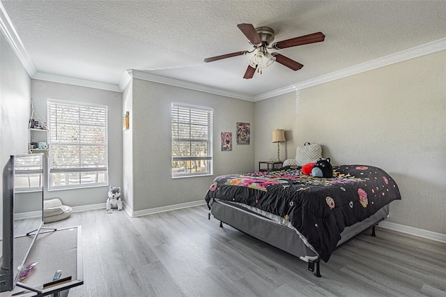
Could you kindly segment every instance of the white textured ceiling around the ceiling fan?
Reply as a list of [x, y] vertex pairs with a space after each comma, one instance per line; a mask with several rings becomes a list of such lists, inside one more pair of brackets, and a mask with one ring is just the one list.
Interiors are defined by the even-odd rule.
[[[446, 1], [5, 1], [38, 73], [118, 85], [126, 70], [259, 96], [446, 36]], [[275, 41], [321, 31], [323, 43], [276, 50], [279, 63], [243, 79], [252, 50], [237, 24]]]

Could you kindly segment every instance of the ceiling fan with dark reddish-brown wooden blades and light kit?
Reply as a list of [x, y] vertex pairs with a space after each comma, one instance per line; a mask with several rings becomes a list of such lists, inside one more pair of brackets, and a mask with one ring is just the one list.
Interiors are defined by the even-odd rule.
[[[248, 68], [243, 78], [249, 79], [254, 76], [254, 73], [262, 73], [263, 68], [267, 68], [274, 61], [281, 63], [283, 66], [290, 68], [291, 70], [299, 70], [303, 67], [301, 63], [298, 63], [288, 57], [279, 54], [277, 52], [268, 52], [268, 50], [282, 50], [286, 47], [295, 47], [298, 45], [307, 45], [309, 43], [320, 43], [324, 40], [325, 35], [321, 32], [312, 33], [305, 36], [295, 37], [287, 40], [279, 41], [278, 43], [272, 43], [274, 40], [274, 31], [267, 26], [261, 26], [254, 28], [252, 24], [238, 24], [238, 29], [248, 38], [249, 43], [254, 47], [252, 51], [233, 52], [231, 54], [222, 54], [221, 56], [213, 56], [206, 58], [206, 63], [213, 62], [221, 59], [231, 58], [233, 56], [243, 56], [257, 51], [254, 56], [248, 61]], [[272, 43], [272, 44], [271, 44]], [[271, 44], [271, 45], [270, 45]]]

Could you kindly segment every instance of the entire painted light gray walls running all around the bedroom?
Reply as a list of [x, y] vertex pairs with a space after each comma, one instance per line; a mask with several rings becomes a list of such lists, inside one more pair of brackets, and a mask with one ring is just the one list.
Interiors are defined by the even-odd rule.
[[[203, 199], [215, 176], [249, 172], [258, 161], [276, 158], [271, 131], [282, 128], [282, 160], [293, 158], [296, 146], [317, 142], [334, 164], [381, 167], [403, 196], [392, 203], [389, 221], [446, 234], [446, 51], [255, 103], [139, 79], [123, 93], [34, 79], [31, 87], [3, 35], [0, 51], [2, 169], [9, 155], [27, 151], [32, 89], [45, 120], [47, 98], [109, 107], [110, 185], [121, 185], [132, 211]], [[213, 176], [171, 178], [171, 102], [214, 109]], [[126, 110], [130, 130], [123, 132]], [[236, 144], [237, 121], [252, 124], [250, 145]], [[222, 131], [233, 132], [233, 151], [220, 151]], [[52, 197], [71, 206], [103, 204], [107, 188], [45, 192], [46, 199]]]

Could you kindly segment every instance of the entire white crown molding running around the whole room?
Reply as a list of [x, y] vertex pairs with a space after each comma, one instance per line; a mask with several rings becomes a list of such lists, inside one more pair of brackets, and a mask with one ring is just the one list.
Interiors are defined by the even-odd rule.
[[87, 79], [77, 79], [72, 77], [63, 77], [61, 75], [52, 75], [49, 73], [38, 73], [36, 67], [31, 61], [28, 52], [20, 39], [20, 36], [15, 29], [13, 22], [10, 20], [8, 13], [6, 12], [3, 4], [0, 1], [0, 30], [5, 36], [8, 43], [13, 48], [14, 52], [17, 54], [17, 57], [22, 62], [23, 67], [26, 72], [32, 79], [42, 79], [48, 80], [50, 82], [60, 82], [63, 84], [74, 84], [77, 86], [87, 86], [95, 89], [105, 89], [108, 91], [118, 91], [122, 92], [125, 87], [128, 86], [132, 78], [143, 79], [150, 82], [157, 82], [160, 84], [168, 84], [170, 86], [178, 86], [184, 89], [191, 89], [195, 91], [201, 91], [206, 93], [212, 93], [219, 96], [226, 96], [230, 98], [237, 98], [241, 100], [247, 101], [260, 101], [268, 98], [272, 98], [275, 96], [283, 95], [285, 93], [291, 93], [296, 89], [305, 89], [310, 86], [316, 86], [317, 84], [323, 84], [325, 82], [331, 82], [335, 79], [340, 79], [343, 77], [348, 77], [351, 75], [363, 73], [369, 70], [373, 70], [376, 68], [380, 68], [383, 66], [391, 65], [393, 63], [398, 63], [401, 61], [405, 61], [408, 59], [416, 58], [417, 56], [423, 56], [425, 54], [431, 54], [433, 52], [439, 52], [440, 50], [446, 50], [446, 38], [433, 41], [431, 43], [426, 43], [424, 45], [420, 45], [417, 47], [410, 48], [408, 50], [404, 50], [402, 52], [397, 52], [395, 54], [390, 54], [387, 56], [383, 56], [381, 58], [368, 61], [365, 63], [361, 63], [359, 65], [346, 68], [343, 70], [335, 71], [334, 73], [328, 73], [327, 75], [322, 75], [320, 77], [315, 77], [314, 79], [308, 79], [305, 82], [298, 82], [296, 84], [292, 84], [290, 86], [285, 86], [284, 88], [277, 89], [274, 91], [262, 93], [257, 96], [249, 96], [243, 93], [236, 93], [227, 91], [224, 89], [217, 89], [211, 86], [204, 86], [201, 84], [195, 84], [192, 82], [185, 82], [179, 79], [172, 79], [169, 77], [161, 77], [158, 75], [152, 75], [150, 73], [144, 73], [139, 70], [127, 70], [121, 81], [118, 85], [116, 84], [107, 84], [102, 82], [93, 82]]

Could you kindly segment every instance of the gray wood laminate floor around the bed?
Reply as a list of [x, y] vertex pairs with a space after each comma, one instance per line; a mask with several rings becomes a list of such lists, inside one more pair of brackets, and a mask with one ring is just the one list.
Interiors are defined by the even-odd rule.
[[84, 285], [99, 296], [446, 296], [446, 245], [388, 229], [336, 250], [315, 277], [291, 254], [220, 221], [206, 206], [129, 218], [73, 213], [82, 225]]

